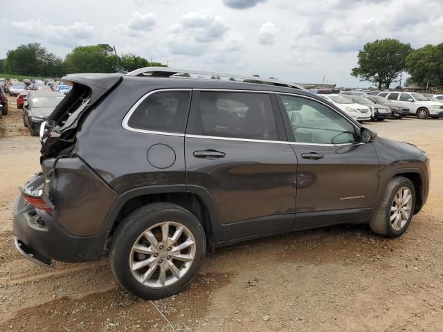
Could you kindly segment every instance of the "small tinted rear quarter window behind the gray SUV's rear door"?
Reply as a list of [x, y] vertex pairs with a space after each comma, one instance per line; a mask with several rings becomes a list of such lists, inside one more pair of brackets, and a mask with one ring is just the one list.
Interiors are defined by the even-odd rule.
[[148, 96], [136, 107], [127, 124], [134, 129], [183, 133], [190, 91], [164, 91]]

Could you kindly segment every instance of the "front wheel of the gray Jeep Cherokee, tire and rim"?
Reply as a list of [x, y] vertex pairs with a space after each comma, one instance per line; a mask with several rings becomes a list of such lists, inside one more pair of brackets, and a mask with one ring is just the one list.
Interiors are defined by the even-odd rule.
[[413, 183], [403, 176], [395, 176], [388, 184], [379, 208], [374, 211], [370, 228], [386, 237], [399, 237], [408, 228], [414, 207]]

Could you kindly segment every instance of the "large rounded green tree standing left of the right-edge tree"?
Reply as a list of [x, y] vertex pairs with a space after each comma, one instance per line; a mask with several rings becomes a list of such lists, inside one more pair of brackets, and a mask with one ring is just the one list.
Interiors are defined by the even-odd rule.
[[376, 83], [381, 89], [389, 89], [392, 82], [406, 69], [406, 57], [412, 48], [397, 39], [377, 39], [365, 44], [359, 50], [358, 66], [352, 68], [351, 75], [361, 81]]

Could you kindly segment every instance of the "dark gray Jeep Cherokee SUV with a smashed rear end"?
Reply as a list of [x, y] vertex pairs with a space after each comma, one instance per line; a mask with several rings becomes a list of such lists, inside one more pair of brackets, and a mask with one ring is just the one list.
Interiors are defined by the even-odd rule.
[[42, 172], [15, 204], [22, 255], [50, 266], [108, 252], [123, 287], [156, 299], [217, 247], [337, 223], [397, 237], [426, 202], [417, 147], [296, 84], [183, 72], [234, 76], [64, 77], [73, 89], [40, 129]]

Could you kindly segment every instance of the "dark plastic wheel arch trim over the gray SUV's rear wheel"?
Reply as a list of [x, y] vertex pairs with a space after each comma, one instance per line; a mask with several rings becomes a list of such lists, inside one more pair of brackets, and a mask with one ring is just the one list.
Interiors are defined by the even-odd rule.
[[204, 228], [211, 249], [213, 243], [226, 239], [226, 230], [221, 227], [219, 210], [213, 197], [204, 188], [189, 185], [138, 187], [120, 194], [107, 214], [101, 231], [109, 232], [111, 238], [128, 214], [156, 202], [175, 203], [194, 214]]

